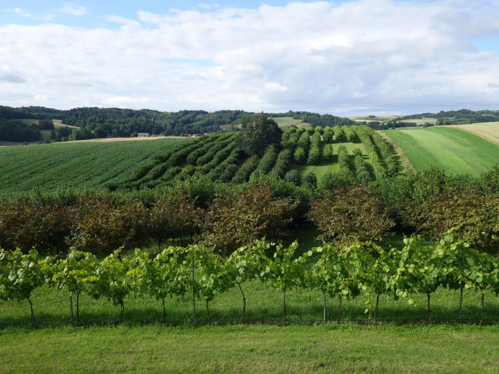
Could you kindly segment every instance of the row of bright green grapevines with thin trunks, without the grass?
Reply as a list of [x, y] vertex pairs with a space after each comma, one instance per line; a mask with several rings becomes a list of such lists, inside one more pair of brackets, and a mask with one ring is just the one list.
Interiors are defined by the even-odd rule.
[[[47, 283], [76, 296], [78, 326], [82, 293], [95, 299], [107, 298], [119, 305], [120, 320], [123, 320], [128, 295], [150, 296], [162, 302], [164, 323], [165, 299], [193, 293], [206, 302], [209, 323], [209, 303], [217, 295], [237, 286], [243, 300], [244, 323], [244, 283], [259, 279], [283, 292], [284, 322], [286, 292], [310, 288], [338, 300], [338, 321], [342, 301], [361, 292], [375, 301], [374, 322], [378, 318], [380, 295], [392, 294], [395, 299], [412, 303], [413, 295], [426, 294], [428, 322], [431, 323], [431, 295], [437, 288], [470, 288], [480, 295], [480, 325], [483, 325], [484, 296], [489, 292], [499, 293], [498, 259], [470, 249], [468, 243], [456, 240], [452, 231], [436, 244], [428, 245], [419, 237], [405, 238], [404, 242], [405, 247], [401, 250], [386, 250], [370, 241], [340, 247], [324, 243], [322, 247], [311, 248], [296, 257], [296, 241], [284, 248], [262, 239], [252, 246], [237, 249], [225, 259], [202, 245], [171, 246], [153, 259], [140, 249], [129, 255], [119, 249], [102, 261], [91, 253], [80, 251], [70, 252], [62, 258], [40, 259], [36, 250], [22, 254], [19, 250], [0, 249], [0, 299], [27, 299], [34, 324], [31, 294]], [[465, 252], [466, 261], [462, 252]], [[319, 255], [314, 256], [316, 253]], [[368, 307], [366, 312], [371, 314], [372, 308]]]

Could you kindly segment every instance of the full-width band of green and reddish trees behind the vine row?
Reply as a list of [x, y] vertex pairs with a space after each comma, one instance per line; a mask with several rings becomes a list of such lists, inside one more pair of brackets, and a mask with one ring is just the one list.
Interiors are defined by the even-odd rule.
[[[275, 152], [272, 157], [278, 158]], [[362, 166], [356, 162], [359, 180], [365, 173]], [[499, 166], [476, 180], [446, 177], [432, 168], [362, 185], [352, 174], [349, 180], [333, 174], [318, 183], [305, 179], [301, 186], [276, 179], [279, 166], [274, 172], [265, 166], [267, 175], [258, 173], [263, 167], [257, 166], [249, 183], [233, 187], [190, 177], [166, 189], [122, 197], [91, 193], [4, 200], [0, 246], [109, 253], [121, 246], [133, 249], [151, 240], [160, 245], [168, 238], [192, 235], [224, 253], [247, 240], [275, 237], [304, 219], [323, 232], [321, 240], [341, 244], [385, 236], [394, 225], [430, 240], [454, 227], [458, 238], [474, 245], [490, 245], [499, 234]], [[353, 186], [341, 186], [345, 181]]]

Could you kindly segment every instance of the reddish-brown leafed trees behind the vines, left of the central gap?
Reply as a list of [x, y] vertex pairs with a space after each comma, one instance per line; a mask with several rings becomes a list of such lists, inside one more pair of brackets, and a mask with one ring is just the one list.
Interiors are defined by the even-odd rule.
[[133, 250], [150, 240], [161, 246], [169, 238], [182, 242], [182, 237], [196, 236], [213, 250], [227, 253], [259, 237], [276, 236], [291, 222], [299, 202], [277, 198], [268, 184], [253, 183], [241, 191], [229, 188], [216, 196], [212, 192], [207, 203], [199, 201], [203, 193], [192, 193], [191, 187], [166, 189], [149, 206], [94, 193], [78, 195], [68, 206], [4, 200], [0, 247], [23, 253], [36, 246], [44, 253], [71, 249], [108, 254], [120, 247]]

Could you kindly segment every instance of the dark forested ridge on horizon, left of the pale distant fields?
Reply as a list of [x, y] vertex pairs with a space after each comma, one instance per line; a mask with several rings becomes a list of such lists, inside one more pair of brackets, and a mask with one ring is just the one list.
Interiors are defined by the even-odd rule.
[[[244, 110], [219, 110], [209, 113], [204, 110], [160, 112], [150, 109], [134, 110], [97, 107], [58, 110], [33, 106], [21, 108], [0, 106], [0, 118], [9, 120], [10, 128], [15, 123], [16, 135], [10, 135], [8, 140], [18, 142], [37, 140], [40, 137], [35, 125], [25, 124], [18, 121], [19, 119], [61, 120], [65, 125], [85, 129], [84, 133], [90, 137], [92, 136], [91, 134], [130, 137], [133, 133], [150, 133], [156, 135], [163, 133], [165, 135], [181, 136], [184, 134], [218, 132], [221, 129], [220, 126], [239, 124], [243, 116], [252, 113]], [[303, 122], [322, 127], [351, 125], [355, 123], [347, 118], [331, 116], [329, 114], [320, 115], [311, 112], [289, 111], [287, 113], [265, 113], [265, 115], [267, 117], [293, 117], [301, 119]], [[0, 134], [2, 134], [1, 130]], [[29, 136], [26, 134], [29, 134]], [[75, 136], [85, 137], [84, 134], [82, 135], [79, 132]], [[7, 138], [0, 135], [0, 140], [7, 140]]]

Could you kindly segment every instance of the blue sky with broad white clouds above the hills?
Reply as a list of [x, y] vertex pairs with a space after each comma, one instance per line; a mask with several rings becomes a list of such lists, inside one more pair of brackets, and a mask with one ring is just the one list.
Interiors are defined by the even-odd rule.
[[499, 109], [499, 0], [2, 0], [0, 105]]

